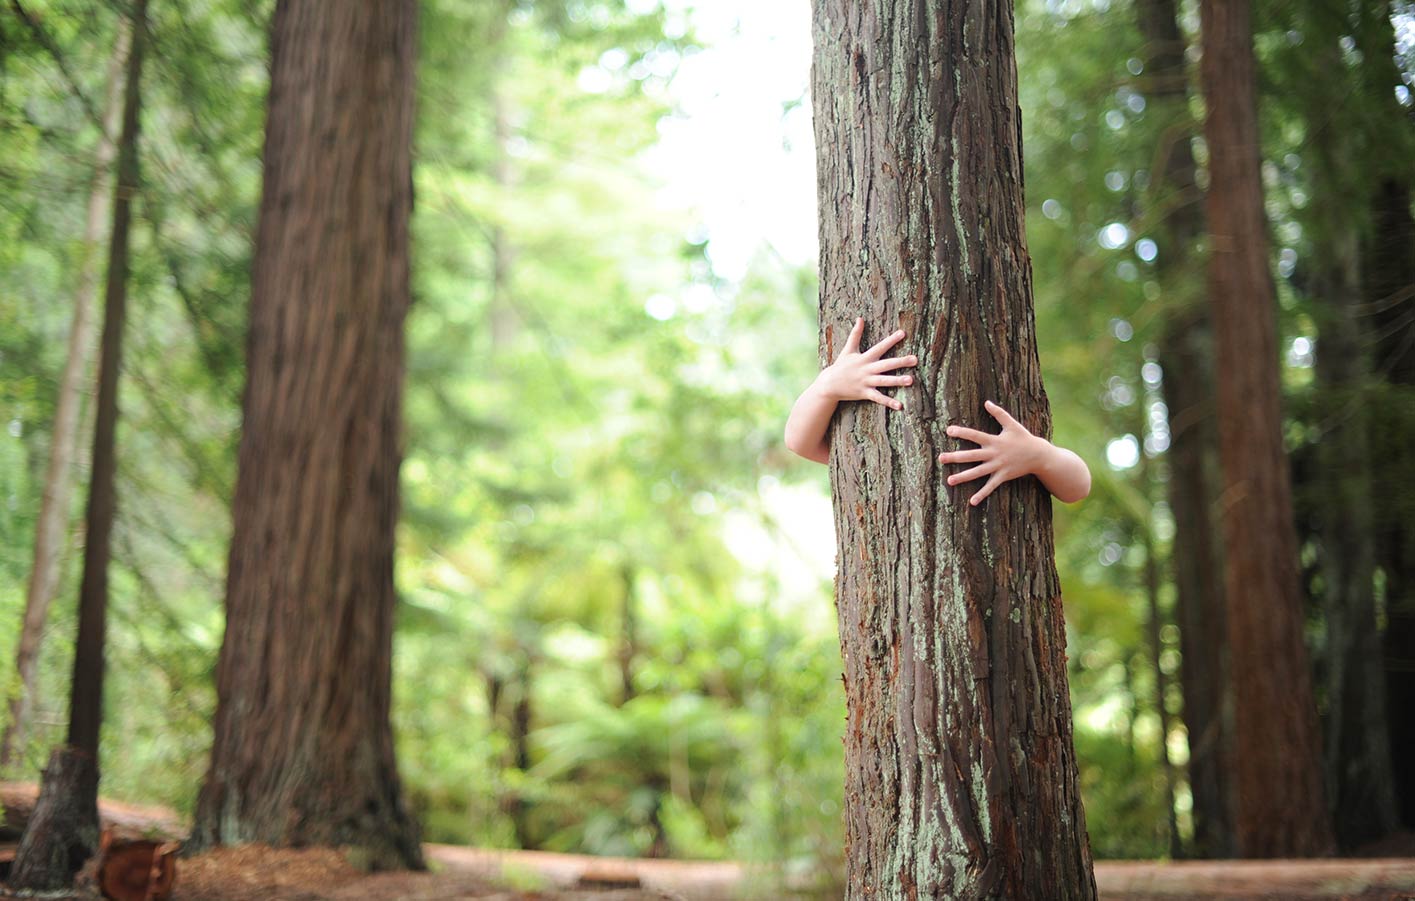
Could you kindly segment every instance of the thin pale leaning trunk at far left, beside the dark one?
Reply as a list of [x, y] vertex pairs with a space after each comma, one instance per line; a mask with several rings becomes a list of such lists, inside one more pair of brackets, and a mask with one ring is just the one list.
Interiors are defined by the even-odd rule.
[[54, 427], [50, 431], [50, 463], [44, 475], [44, 498], [34, 529], [34, 566], [30, 587], [24, 595], [24, 620], [16, 669], [20, 675], [18, 693], [8, 699], [10, 717], [0, 736], [0, 769], [16, 757], [17, 745], [28, 730], [30, 707], [34, 702], [34, 665], [40, 656], [44, 624], [50, 618], [50, 604], [59, 581], [59, 562], [64, 559], [69, 523], [69, 496], [74, 492], [74, 464], [78, 444], [82, 386], [89, 379], [89, 355], [93, 345], [93, 297], [98, 293], [98, 262], [103, 239], [103, 221], [109, 211], [109, 170], [117, 153], [113, 133], [123, 102], [123, 64], [127, 58], [127, 20], [119, 20], [113, 40], [113, 55], [108, 64], [108, 93], [103, 99], [103, 129], [93, 154], [93, 178], [89, 182], [88, 214], [83, 219], [83, 243], [79, 248], [78, 284], [74, 289], [74, 320], [69, 325], [68, 355], [59, 376], [59, 393], [54, 407]]

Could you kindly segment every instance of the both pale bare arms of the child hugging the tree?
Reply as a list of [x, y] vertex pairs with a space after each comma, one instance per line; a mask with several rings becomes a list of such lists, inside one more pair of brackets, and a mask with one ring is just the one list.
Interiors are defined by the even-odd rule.
[[[896, 331], [867, 351], [860, 351], [863, 334], [865, 320], [857, 318], [839, 356], [821, 371], [791, 407], [785, 429], [787, 447], [807, 460], [829, 461], [831, 416], [842, 400], [870, 400], [890, 410], [904, 409], [903, 402], [880, 390], [914, 383], [911, 375], [893, 373], [918, 365], [917, 356], [884, 356], [904, 339], [904, 331]], [[972, 441], [978, 447], [938, 455], [938, 463], [974, 464], [951, 474], [949, 485], [988, 477], [983, 487], [968, 499], [971, 505], [982, 504], [998, 485], [1023, 475], [1036, 475], [1047, 491], [1064, 504], [1075, 504], [1091, 492], [1091, 470], [1084, 460], [1041, 436], [1032, 434], [992, 400], [983, 406], [1002, 426], [1002, 431], [993, 434], [965, 426], [948, 426], [947, 433], [951, 437]]]

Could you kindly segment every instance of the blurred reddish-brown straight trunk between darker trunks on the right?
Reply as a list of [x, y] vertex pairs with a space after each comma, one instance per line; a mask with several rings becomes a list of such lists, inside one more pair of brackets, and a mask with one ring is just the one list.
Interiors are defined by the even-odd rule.
[[1330, 853], [1333, 839], [1302, 644], [1248, 16], [1244, 0], [1200, 3], [1235, 714], [1234, 832], [1244, 857], [1310, 857]]

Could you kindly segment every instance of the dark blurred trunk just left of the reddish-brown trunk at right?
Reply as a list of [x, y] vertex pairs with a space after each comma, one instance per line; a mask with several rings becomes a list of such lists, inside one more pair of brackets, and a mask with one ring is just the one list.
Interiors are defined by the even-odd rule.
[[1169, 410], [1169, 506], [1174, 516], [1172, 549], [1176, 618], [1180, 628], [1180, 685], [1189, 736], [1189, 788], [1193, 796], [1199, 857], [1232, 854], [1228, 760], [1232, 714], [1228, 697], [1228, 628], [1224, 570], [1214, 501], [1218, 496], [1218, 430], [1214, 403], [1213, 328], [1207, 298], [1194, 283], [1194, 242], [1204, 232], [1203, 195], [1194, 177], [1190, 140], [1189, 76], [1184, 35], [1174, 0], [1136, 4], [1145, 37], [1145, 93], [1160, 123], [1155, 188], [1149, 202], [1162, 207], [1157, 269], [1166, 291], [1159, 347], [1162, 390]]

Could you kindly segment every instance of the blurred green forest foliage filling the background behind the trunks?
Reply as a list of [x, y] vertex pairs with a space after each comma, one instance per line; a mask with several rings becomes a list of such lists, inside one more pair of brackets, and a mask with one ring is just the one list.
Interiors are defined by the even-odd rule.
[[[272, 6], [149, 13], [102, 794], [183, 813], [215, 709]], [[0, 778], [34, 779], [68, 703], [92, 296], [74, 351], [69, 334], [83, 281], [102, 284], [85, 222], [110, 190], [99, 122], [127, 6], [7, 7]], [[720, 272], [695, 211], [664, 202], [647, 156], [700, 52], [692, 10], [424, 0], [420, 17], [393, 730], [423, 839], [838, 868], [829, 485], [781, 443], [816, 372], [815, 272], [767, 245]], [[1056, 530], [1097, 857], [1223, 853], [1221, 827], [1196, 833], [1211, 802], [1190, 767], [1224, 730], [1221, 624], [1206, 632], [1194, 600], [1221, 590], [1220, 499], [1189, 532], [1174, 509], [1176, 472], [1213, 484], [1217, 465], [1211, 347], [1182, 313], [1203, 296], [1206, 235], [1174, 212], [1197, 197], [1152, 187], [1176, 149], [1204, 182], [1197, 30], [1187, 1], [1017, 3], [1043, 372], [1054, 438], [1095, 477], [1056, 504]], [[1353, 850], [1415, 818], [1415, 6], [1259, 0], [1255, 33], [1317, 703], [1333, 734], [1350, 707], [1336, 675], [1373, 665], [1346, 638], [1365, 603], [1368, 687], [1390, 704], [1397, 819], [1339, 826]], [[808, 112], [799, 96], [781, 115]], [[11, 661], [67, 365], [78, 453], [23, 693]], [[1363, 454], [1333, 454], [1353, 429]], [[1333, 521], [1351, 496], [1364, 516]], [[1364, 601], [1330, 588], [1353, 547]], [[1329, 785], [1344, 754], [1329, 740]]]

